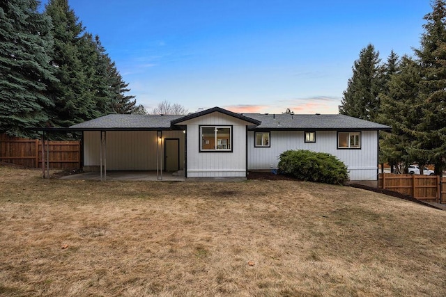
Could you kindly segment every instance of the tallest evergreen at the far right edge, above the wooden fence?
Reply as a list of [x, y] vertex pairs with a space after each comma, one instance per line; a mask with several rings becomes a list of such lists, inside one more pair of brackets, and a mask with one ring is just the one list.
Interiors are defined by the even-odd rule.
[[421, 47], [415, 54], [423, 84], [422, 123], [418, 127], [419, 154], [441, 174], [446, 163], [446, 2], [436, 0], [426, 16]]

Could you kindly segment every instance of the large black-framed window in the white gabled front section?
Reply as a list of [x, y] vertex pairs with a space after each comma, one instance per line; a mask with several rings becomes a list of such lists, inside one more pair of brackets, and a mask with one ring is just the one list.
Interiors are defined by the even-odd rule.
[[200, 152], [231, 152], [231, 126], [200, 126]]

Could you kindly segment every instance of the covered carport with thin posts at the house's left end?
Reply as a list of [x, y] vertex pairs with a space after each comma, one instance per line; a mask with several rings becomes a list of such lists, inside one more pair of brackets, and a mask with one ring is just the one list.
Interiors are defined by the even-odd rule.
[[[68, 128], [33, 130], [43, 132], [43, 143], [51, 133], [81, 132], [82, 169], [91, 172], [91, 177], [98, 175], [100, 180], [107, 180], [110, 172], [114, 172], [112, 178], [116, 178], [116, 172], [146, 172], [141, 180], [153, 179], [154, 174], [156, 180], [184, 179], [186, 131], [183, 126], [171, 126], [171, 120], [180, 117], [114, 114]], [[45, 145], [42, 156], [44, 177], [47, 177]], [[141, 178], [141, 174], [138, 176]]]

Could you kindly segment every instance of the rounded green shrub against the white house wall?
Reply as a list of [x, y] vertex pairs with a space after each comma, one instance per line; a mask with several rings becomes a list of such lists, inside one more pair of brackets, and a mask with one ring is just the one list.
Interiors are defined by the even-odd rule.
[[279, 156], [279, 173], [309, 182], [345, 184], [347, 166], [336, 156], [309, 150], [287, 150]]

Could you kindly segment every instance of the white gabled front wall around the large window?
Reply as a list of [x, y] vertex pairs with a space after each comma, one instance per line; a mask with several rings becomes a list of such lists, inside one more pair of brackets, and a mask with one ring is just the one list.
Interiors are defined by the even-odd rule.
[[[187, 177], [246, 177], [246, 125], [223, 113], [180, 123], [187, 125]], [[232, 152], [200, 152], [200, 125], [232, 125]]]

